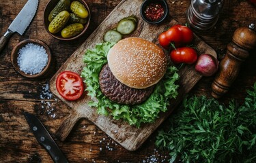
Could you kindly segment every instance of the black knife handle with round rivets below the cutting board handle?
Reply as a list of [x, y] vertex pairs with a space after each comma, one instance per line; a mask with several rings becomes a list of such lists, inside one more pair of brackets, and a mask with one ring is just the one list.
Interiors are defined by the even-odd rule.
[[38, 117], [28, 112], [23, 112], [23, 115], [29, 124], [29, 128], [33, 132], [35, 139], [46, 149], [53, 161], [55, 163], [68, 162], [67, 158], [64, 156], [61, 149], [59, 149], [58, 145], [55, 143]]

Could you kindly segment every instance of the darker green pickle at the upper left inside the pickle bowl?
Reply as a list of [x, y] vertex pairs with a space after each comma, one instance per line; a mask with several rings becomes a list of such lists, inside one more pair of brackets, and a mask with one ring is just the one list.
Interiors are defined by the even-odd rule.
[[59, 14], [59, 12], [62, 12], [63, 10], [68, 10], [70, 8], [70, 0], [59, 0], [57, 5], [53, 8], [51, 13], [48, 16], [48, 20], [51, 22], [53, 21], [53, 18]]

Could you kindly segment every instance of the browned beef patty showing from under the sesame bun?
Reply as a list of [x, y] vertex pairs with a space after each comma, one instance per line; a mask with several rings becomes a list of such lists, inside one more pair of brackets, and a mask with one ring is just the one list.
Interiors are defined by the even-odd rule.
[[154, 90], [154, 86], [135, 89], [122, 84], [115, 78], [107, 64], [102, 67], [99, 80], [102, 93], [111, 101], [119, 104], [136, 105], [142, 103]]

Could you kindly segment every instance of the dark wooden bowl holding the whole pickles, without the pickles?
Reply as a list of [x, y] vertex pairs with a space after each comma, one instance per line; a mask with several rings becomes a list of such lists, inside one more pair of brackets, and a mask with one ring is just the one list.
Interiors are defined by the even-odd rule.
[[[74, 0], [70, 0], [71, 2]], [[82, 3], [83, 5], [85, 5], [85, 8], [88, 11], [88, 17], [87, 17], [87, 22], [85, 24], [83, 24], [84, 29], [81, 33], [79, 33], [79, 35], [76, 35], [74, 37], [70, 37], [70, 38], [63, 38], [61, 37], [61, 31], [59, 33], [53, 34], [50, 33], [48, 31], [48, 26], [50, 24], [50, 21], [48, 20], [48, 16], [51, 13], [51, 11], [53, 10], [53, 8], [57, 5], [57, 3], [59, 2], [59, 0], [50, 0], [48, 1], [48, 3], [46, 4], [46, 7], [44, 8], [44, 16], [43, 16], [43, 22], [44, 22], [44, 28], [46, 29], [46, 31], [55, 39], [60, 39], [60, 40], [64, 40], [64, 41], [69, 41], [69, 40], [73, 40], [73, 39], [77, 39], [78, 37], [80, 37], [81, 35], [83, 35], [85, 33], [85, 31], [87, 31], [88, 26], [89, 26], [89, 22], [91, 20], [91, 13], [89, 11], [89, 7], [87, 5], [87, 3], [85, 2], [85, 0], [76, 0], [79, 1], [80, 3]], [[68, 11], [70, 12], [70, 11]]]

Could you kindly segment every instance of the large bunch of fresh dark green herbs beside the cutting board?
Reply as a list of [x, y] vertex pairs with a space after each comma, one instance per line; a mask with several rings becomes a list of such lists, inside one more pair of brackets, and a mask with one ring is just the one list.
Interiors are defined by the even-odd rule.
[[256, 83], [247, 93], [241, 106], [234, 100], [226, 107], [204, 96], [186, 98], [156, 145], [169, 149], [169, 162], [256, 162]]

